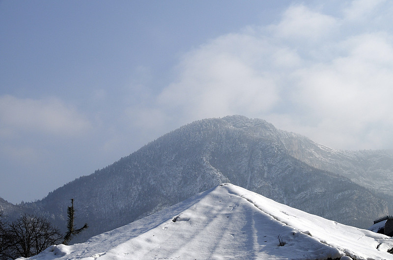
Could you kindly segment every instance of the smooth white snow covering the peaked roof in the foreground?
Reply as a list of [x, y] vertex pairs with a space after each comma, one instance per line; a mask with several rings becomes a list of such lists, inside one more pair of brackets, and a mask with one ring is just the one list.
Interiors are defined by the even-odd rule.
[[84, 243], [54, 245], [30, 259], [393, 260], [387, 253], [391, 248], [389, 236], [222, 184]]

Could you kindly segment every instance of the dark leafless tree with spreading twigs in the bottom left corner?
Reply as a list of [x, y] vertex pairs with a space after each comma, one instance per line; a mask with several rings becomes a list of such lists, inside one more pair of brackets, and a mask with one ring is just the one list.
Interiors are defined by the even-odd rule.
[[61, 241], [61, 233], [43, 217], [24, 214], [5, 227], [9, 241], [2, 258], [32, 257]]

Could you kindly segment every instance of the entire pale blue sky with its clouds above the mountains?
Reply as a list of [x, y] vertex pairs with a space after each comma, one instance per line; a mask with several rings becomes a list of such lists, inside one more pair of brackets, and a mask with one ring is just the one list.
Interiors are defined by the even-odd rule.
[[393, 3], [0, 1], [0, 197], [44, 197], [189, 122], [392, 149]]

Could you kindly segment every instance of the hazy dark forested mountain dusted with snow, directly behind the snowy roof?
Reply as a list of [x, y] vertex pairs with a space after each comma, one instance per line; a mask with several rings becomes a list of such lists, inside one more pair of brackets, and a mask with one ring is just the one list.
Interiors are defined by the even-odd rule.
[[[231, 116], [196, 121], [24, 207], [50, 217], [61, 228], [69, 199], [75, 198], [77, 220], [90, 228], [74, 242], [126, 225], [220, 183], [232, 183], [361, 228], [388, 214], [388, 197], [295, 158], [293, 147], [288, 148], [289, 137], [294, 143], [296, 136], [262, 119]], [[313, 154], [309, 149], [303, 152]]]

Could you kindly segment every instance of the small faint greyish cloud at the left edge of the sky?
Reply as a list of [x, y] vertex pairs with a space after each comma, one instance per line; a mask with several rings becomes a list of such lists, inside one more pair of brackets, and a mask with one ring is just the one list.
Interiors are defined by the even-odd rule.
[[90, 128], [87, 119], [57, 98], [30, 99], [2, 95], [0, 122], [2, 133], [12, 131], [75, 137]]

